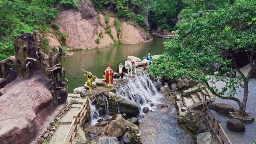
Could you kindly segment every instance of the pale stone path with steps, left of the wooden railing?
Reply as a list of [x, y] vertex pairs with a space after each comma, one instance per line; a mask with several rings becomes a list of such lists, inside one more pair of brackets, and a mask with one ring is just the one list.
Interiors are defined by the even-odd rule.
[[73, 116], [76, 116], [79, 108], [82, 106], [85, 98], [82, 98], [80, 94], [68, 94], [67, 101], [71, 104], [71, 109], [61, 118], [59, 128], [55, 131], [50, 144], [62, 144], [67, 134], [67, 130], [73, 121]]

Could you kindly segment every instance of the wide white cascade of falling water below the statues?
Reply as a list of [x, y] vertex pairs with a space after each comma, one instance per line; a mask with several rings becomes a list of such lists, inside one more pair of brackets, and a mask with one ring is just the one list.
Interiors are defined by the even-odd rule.
[[150, 108], [148, 102], [157, 103], [157, 98], [161, 96], [147, 73], [138, 74], [127, 83], [119, 85], [116, 94], [135, 101], [141, 109], [144, 106]]

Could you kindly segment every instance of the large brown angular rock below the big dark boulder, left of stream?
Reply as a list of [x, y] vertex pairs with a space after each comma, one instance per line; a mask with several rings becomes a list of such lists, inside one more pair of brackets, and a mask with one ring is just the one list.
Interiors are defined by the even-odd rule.
[[115, 114], [107, 125], [105, 134], [110, 135], [111, 137], [120, 137], [124, 134], [126, 129], [127, 123], [124, 117], [122, 117], [121, 114]]

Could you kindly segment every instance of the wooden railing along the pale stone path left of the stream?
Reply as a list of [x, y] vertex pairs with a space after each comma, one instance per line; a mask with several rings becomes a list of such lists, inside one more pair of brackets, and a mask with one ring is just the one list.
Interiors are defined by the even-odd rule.
[[67, 131], [67, 134], [62, 144], [71, 144], [73, 139], [77, 137], [77, 129], [79, 128], [79, 126], [83, 125], [83, 123], [85, 122], [88, 112], [89, 112], [89, 99], [85, 98], [85, 102], [83, 102], [83, 105], [79, 109], [77, 115], [73, 117], [73, 121]]

